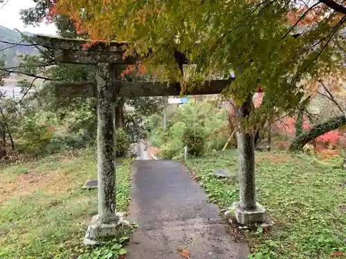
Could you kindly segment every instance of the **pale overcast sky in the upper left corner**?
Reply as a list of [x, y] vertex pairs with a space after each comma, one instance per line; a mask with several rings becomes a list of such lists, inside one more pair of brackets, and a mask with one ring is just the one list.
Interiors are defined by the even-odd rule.
[[[2, 4], [0, 4], [1, 8]], [[10, 29], [18, 29], [19, 31], [33, 32], [37, 34], [56, 35], [55, 26], [48, 26], [42, 23], [39, 27], [28, 26], [24, 27], [19, 15], [21, 9], [26, 9], [35, 6], [32, 0], [8, 0], [3, 8], [0, 9], [0, 25]]]

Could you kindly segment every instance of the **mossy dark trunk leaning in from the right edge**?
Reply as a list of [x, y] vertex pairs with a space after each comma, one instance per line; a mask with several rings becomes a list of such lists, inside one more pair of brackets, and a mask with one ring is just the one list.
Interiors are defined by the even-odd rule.
[[334, 117], [328, 119], [327, 122], [317, 124], [306, 133], [302, 133], [298, 137], [295, 137], [295, 140], [293, 140], [289, 146], [289, 151], [301, 151], [305, 144], [309, 143], [311, 140], [315, 140], [316, 137], [320, 137], [320, 135], [323, 135], [329, 131], [334, 131], [345, 124], [345, 115]]

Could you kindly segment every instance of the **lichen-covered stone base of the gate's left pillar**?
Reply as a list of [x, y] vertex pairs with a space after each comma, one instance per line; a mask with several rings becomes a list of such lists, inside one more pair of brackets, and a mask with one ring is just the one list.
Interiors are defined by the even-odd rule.
[[115, 219], [110, 224], [102, 224], [100, 216], [95, 215], [88, 229], [86, 229], [83, 244], [95, 245], [102, 242], [102, 239], [114, 238], [118, 236], [122, 227], [129, 225], [130, 222], [125, 220], [122, 213], [116, 213]]

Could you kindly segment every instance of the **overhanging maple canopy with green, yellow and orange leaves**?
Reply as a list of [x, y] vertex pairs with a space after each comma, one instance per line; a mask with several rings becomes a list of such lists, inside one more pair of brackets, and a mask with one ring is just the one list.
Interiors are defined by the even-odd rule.
[[[329, 75], [344, 59], [342, 1], [49, 3], [48, 19], [56, 14], [69, 17], [78, 32], [91, 39], [90, 44], [126, 41], [124, 58], [141, 55], [142, 68], [149, 73], [159, 68], [162, 78], [184, 82], [236, 71], [228, 93], [239, 106], [257, 91], [260, 78], [266, 102], [255, 111], [250, 108], [254, 115], [274, 107], [280, 113], [300, 107], [308, 84]], [[177, 64], [176, 51], [194, 64], [185, 66], [190, 68], [188, 78]]]

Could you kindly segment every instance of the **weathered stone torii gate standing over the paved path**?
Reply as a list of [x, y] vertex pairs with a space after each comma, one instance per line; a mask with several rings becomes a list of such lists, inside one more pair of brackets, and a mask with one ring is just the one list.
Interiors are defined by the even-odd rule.
[[[123, 215], [116, 213], [113, 138], [116, 97], [180, 95], [181, 86], [179, 83], [167, 84], [167, 82], [164, 82], [161, 84], [161, 82], [124, 82], [116, 80], [116, 66], [136, 64], [140, 60], [139, 57], [122, 59], [122, 47], [126, 44], [98, 42], [88, 50], [83, 50], [82, 46], [88, 41], [41, 35], [35, 36], [35, 42], [44, 48], [50, 49], [57, 62], [94, 65], [97, 71], [95, 82], [55, 84], [55, 95], [57, 97], [95, 97], [97, 99], [98, 215], [95, 215], [91, 220], [84, 238], [84, 244], [95, 244], [99, 238], [116, 236], [118, 226], [129, 224]], [[184, 95], [219, 94], [233, 79], [206, 81], [200, 86], [195, 86]], [[251, 172], [244, 172], [239, 179], [241, 179], [240, 189], [244, 191], [240, 191], [239, 198], [241, 202], [235, 211], [237, 220], [241, 223], [248, 223], [248, 220], [251, 220], [255, 215], [257, 222], [263, 221], [264, 213], [262, 215], [261, 212], [262, 216], [259, 217], [258, 208], [253, 208], [253, 204], [256, 204], [254, 195], [255, 175]]]

